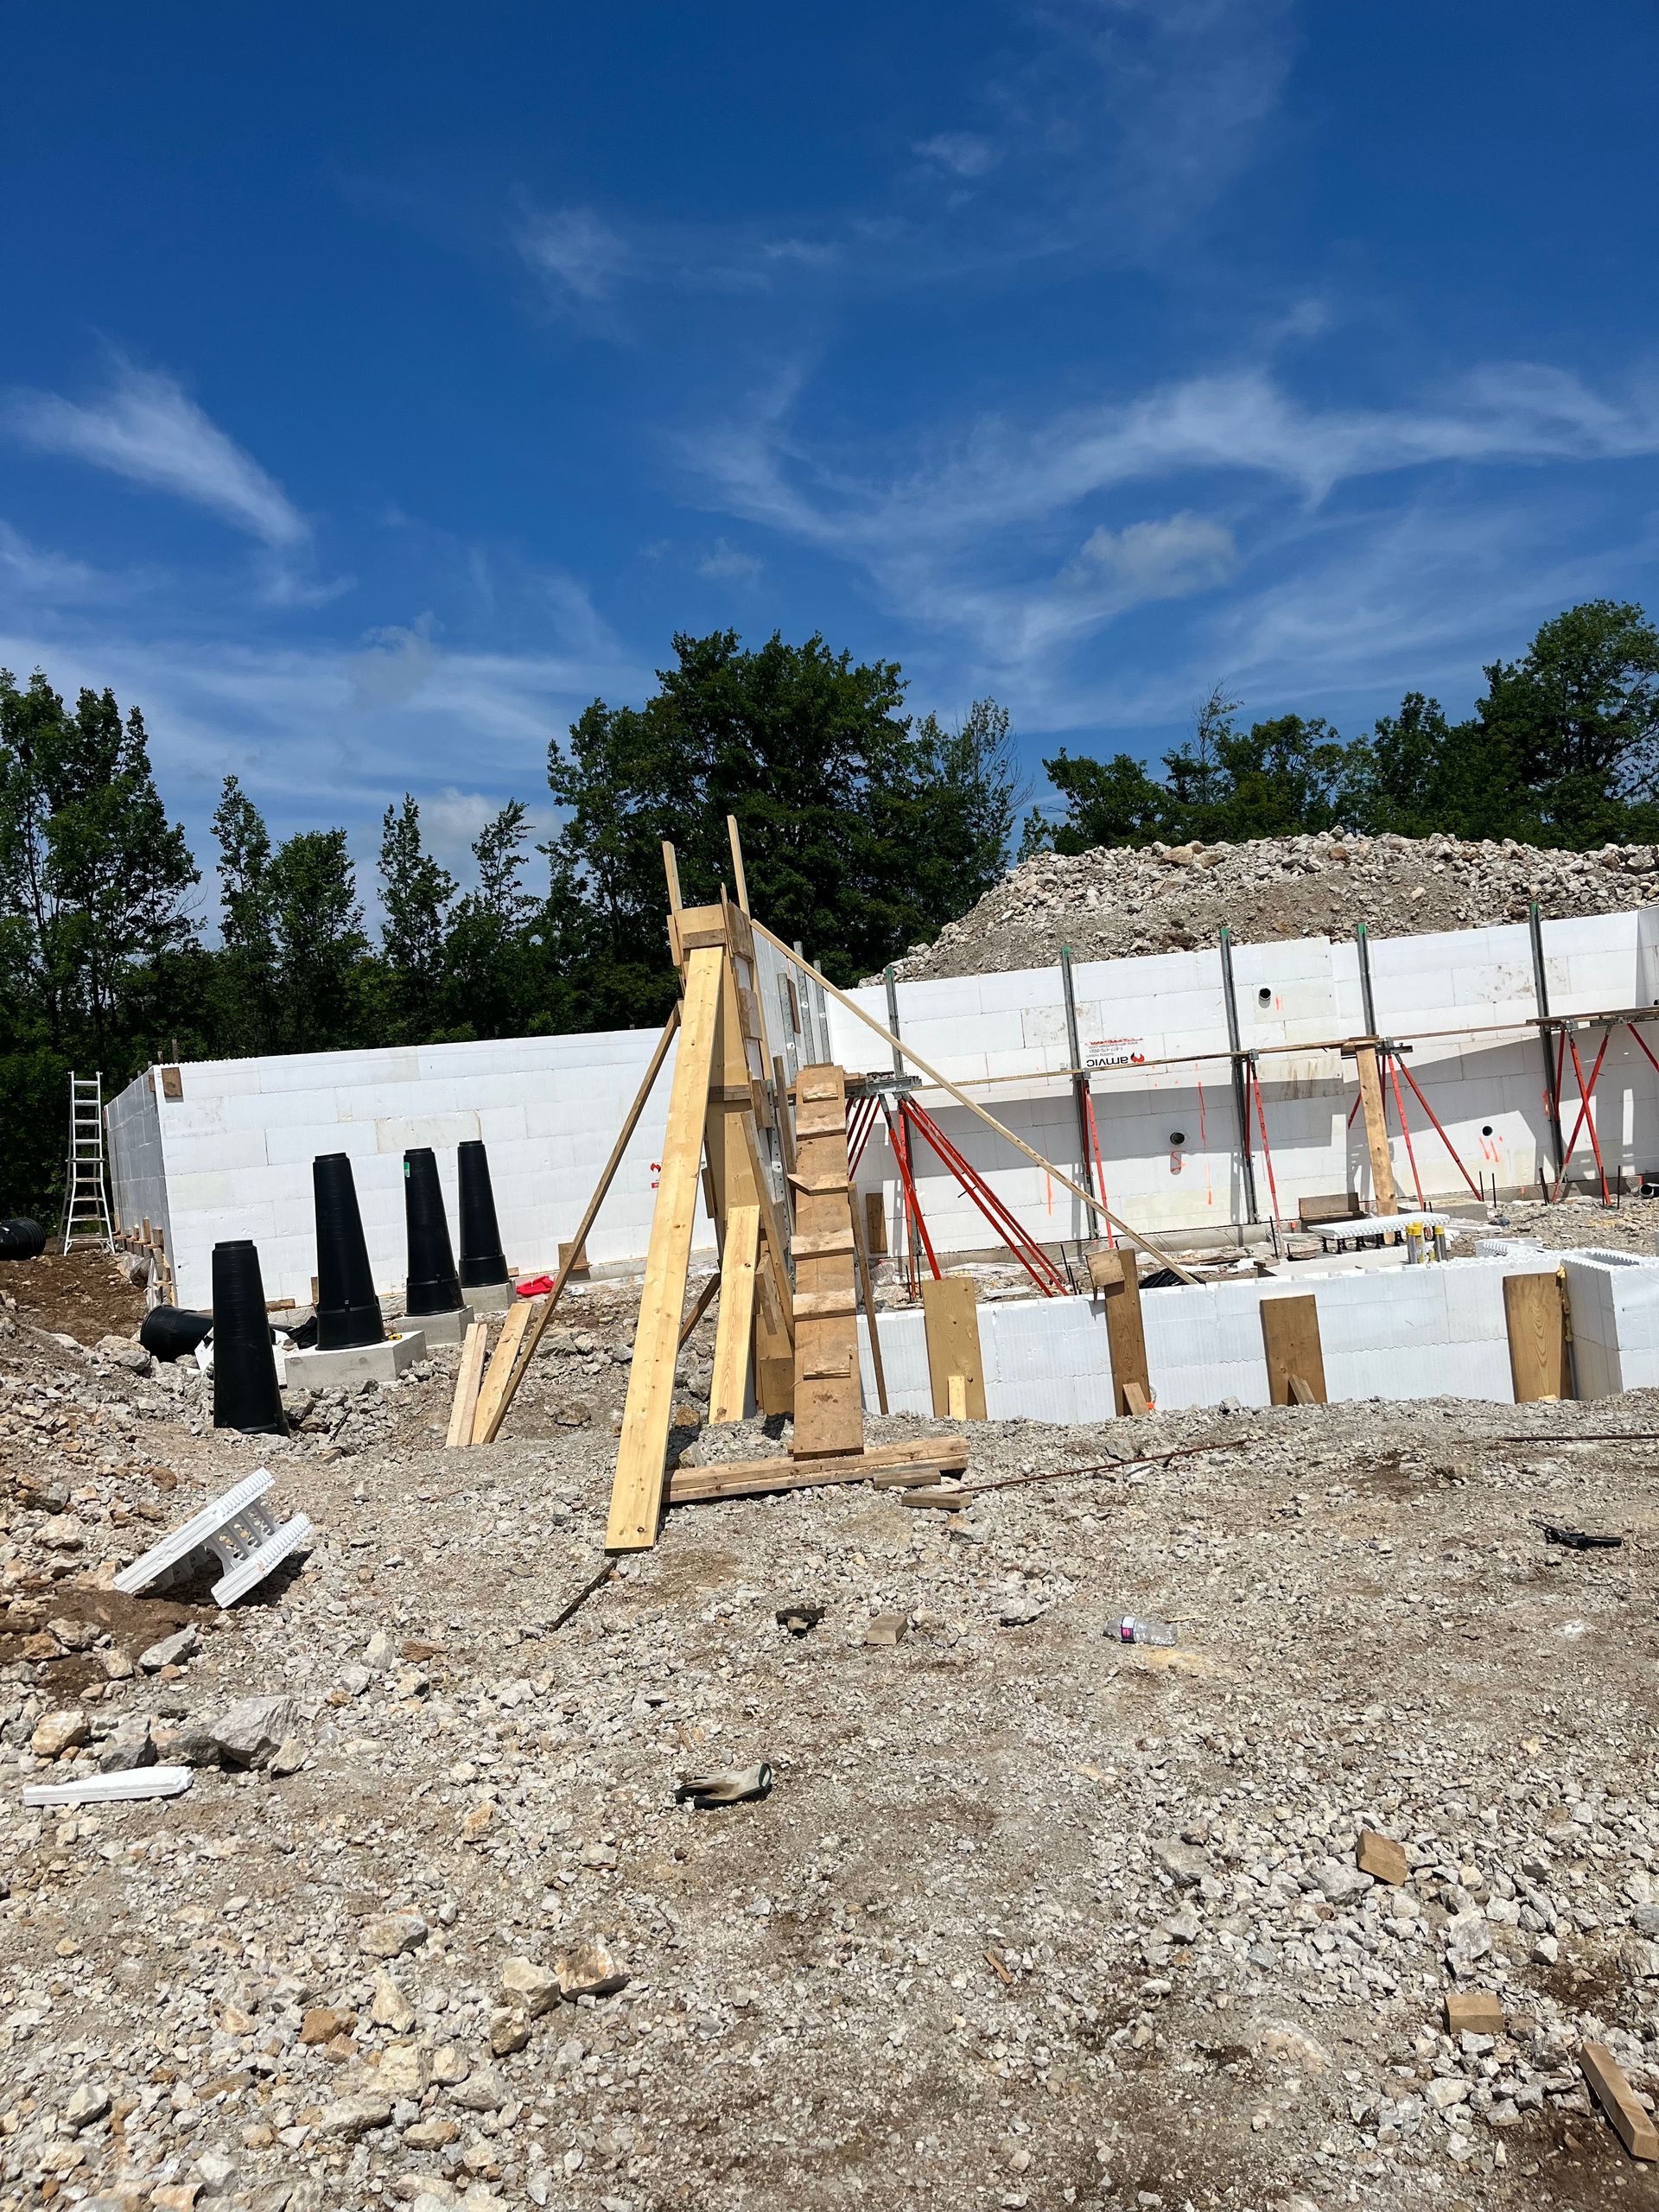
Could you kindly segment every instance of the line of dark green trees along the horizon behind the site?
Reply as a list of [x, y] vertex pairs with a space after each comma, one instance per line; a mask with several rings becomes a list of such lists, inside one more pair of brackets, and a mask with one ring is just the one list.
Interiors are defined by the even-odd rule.
[[[1044, 761], [1057, 810], [1022, 852], [1318, 830], [1659, 838], [1659, 633], [1637, 606], [1575, 606], [1495, 661], [1467, 721], [1409, 692], [1343, 741], [1323, 719], [1239, 728], [1217, 690], [1152, 774], [1130, 754]], [[821, 637], [745, 650], [677, 637], [639, 708], [595, 701], [549, 748], [560, 830], [531, 845], [513, 799], [473, 843], [467, 891], [405, 796], [380, 825], [378, 942], [345, 830], [272, 836], [234, 776], [212, 821], [217, 942], [201, 869], [155, 787], [144, 719], [111, 692], [69, 708], [0, 672], [0, 1212], [51, 1212], [66, 1073], [106, 1091], [153, 1057], [330, 1051], [664, 1020], [661, 841], [686, 896], [730, 878], [836, 982], [964, 914], [1002, 874], [1018, 812], [1009, 717], [905, 714], [896, 664]], [[544, 863], [538, 865], [538, 856]]]

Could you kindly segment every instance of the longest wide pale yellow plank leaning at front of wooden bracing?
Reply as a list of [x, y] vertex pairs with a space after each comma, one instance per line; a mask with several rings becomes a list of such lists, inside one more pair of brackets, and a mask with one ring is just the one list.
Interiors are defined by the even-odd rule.
[[723, 947], [706, 947], [686, 960], [679, 1055], [668, 1095], [668, 1128], [661, 1141], [657, 1206], [650, 1217], [628, 1400], [622, 1409], [617, 1471], [611, 1482], [606, 1551], [644, 1551], [657, 1542], [668, 1427], [675, 1411], [679, 1316], [686, 1305], [686, 1270], [697, 1221], [697, 1170], [703, 1157], [703, 1115], [723, 973]]

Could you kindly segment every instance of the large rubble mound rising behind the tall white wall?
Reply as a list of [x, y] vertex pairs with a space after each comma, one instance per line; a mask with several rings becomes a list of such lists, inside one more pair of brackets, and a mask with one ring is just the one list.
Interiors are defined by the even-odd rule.
[[1608, 914], [1659, 898], [1659, 849], [1606, 845], [1464, 845], [1458, 838], [1259, 838], [1250, 845], [1095, 847], [1040, 854], [1011, 869], [971, 914], [896, 962], [907, 975], [989, 975], [1048, 967], [1068, 945], [1077, 960], [1192, 951], [1225, 922], [1237, 942], [1380, 938], [1526, 920]]

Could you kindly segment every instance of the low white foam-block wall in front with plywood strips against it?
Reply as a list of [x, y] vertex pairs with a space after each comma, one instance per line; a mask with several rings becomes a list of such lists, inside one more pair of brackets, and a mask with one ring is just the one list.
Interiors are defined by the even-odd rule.
[[[1254, 1279], [1141, 1294], [1146, 1367], [1161, 1411], [1267, 1405], [1261, 1307], [1312, 1296], [1325, 1360], [1325, 1396], [1515, 1396], [1504, 1323], [1504, 1276], [1566, 1265], [1575, 1389], [1608, 1398], [1659, 1383], [1659, 1261], [1628, 1252], [1511, 1250], [1493, 1259], [1356, 1274]], [[1106, 1312], [1099, 1298], [982, 1303], [980, 1363], [989, 1420], [1093, 1422], [1113, 1418]], [[927, 1325], [914, 1310], [878, 1316], [891, 1413], [931, 1413]], [[858, 1323], [865, 1405], [876, 1369], [869, 1325]]]

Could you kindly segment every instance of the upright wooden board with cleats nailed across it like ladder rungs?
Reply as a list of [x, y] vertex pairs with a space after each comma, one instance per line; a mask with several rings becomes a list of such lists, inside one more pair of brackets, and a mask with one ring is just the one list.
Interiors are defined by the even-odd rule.
[[794, 1086], [794, 1438], [790, 1455], [825, 1460], [858, 1451], [858, 1287], [847, 1190], [847, 1077], [801, 1068]]

